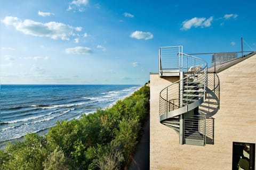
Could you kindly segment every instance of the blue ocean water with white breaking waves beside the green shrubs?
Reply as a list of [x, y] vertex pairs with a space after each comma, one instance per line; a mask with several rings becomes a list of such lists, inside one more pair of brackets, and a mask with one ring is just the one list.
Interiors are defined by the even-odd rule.
[[43, 132], [57, 121], [107, 108], [137, 85], [1, 85], [0, 141]]

